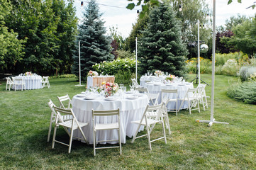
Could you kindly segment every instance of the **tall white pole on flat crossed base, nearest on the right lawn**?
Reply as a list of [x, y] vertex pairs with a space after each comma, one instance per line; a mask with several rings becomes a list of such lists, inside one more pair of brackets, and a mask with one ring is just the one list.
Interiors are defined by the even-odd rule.
[[201, 123], [209, 123], [208, 126], [213, 125], [213, 123], [221, 123], [221, 124], [229, 124], [229, 123], [223, 123], [223, 122], [217, 122], [213, 118], [213, 108], [214, 108], [214, 81], [215, 81], [215, 51], [216, 51], [216, 23], [215, 23], [215, 17], [216, 17], [216, 0], [213, 0], [213, 57], [212, 57], [212, 73], [211, 73], [211, 119], [210, 120], [196, 120], [196, 122]]

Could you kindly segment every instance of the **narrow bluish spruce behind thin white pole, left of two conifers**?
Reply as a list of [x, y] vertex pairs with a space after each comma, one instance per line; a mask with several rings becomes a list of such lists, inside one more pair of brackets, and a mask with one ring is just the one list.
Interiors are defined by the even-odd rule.
[[85, 8], [82, 24], [79, 26], [76, 49], [73, 55], [72, 72], [79, 75], [78, 41], [80, 41], [81, 78], [84, 80], [92, 65], [106, 60], [113, 60], [111, 55], [111, 38], [106, 36], [102, 13], [95, 0], [89, 1]]

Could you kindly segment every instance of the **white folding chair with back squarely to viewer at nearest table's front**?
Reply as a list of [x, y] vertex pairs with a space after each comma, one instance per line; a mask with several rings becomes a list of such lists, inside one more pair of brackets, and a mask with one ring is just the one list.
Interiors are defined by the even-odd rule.
[[[121, 127], [120, 127], [120, 111], [119, 108], [111, 111], [92, 111], [92, 122], [93, 122], [93, 130], [94, 130], [94, 156], [96, 155], [96, 149], [107, 149], [107, 148], [120, 148], [120, 154], [122, 154], [122, 145], [121, 145]], [[106, 118], [107, 116], [115, 116], [116, 121], [111, 123], [100, 123], [99, 120], [96, 120], [100, 117]], [[115, 118], [113, 118], [114, 120]], [[96, 131], [99, 130], [118, 130], [118, 139], [117, 140], [96, 140]], [[119, 146], [113, 147], [96, 147], [97, 142], [114, 142], [118, 141]]]

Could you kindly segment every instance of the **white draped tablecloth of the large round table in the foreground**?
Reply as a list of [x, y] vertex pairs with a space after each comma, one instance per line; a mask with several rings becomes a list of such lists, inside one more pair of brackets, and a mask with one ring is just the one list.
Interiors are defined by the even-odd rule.
[[[112, 110], [120, 109], [120, 125], [121, 125], [121, 142], [126, 143], [126, 136], [132, 137], [138, 128], [138, 125], [130, 123], [133, 120], [140, 120], [148, 105], [148, 96], [139, 96], [136, 99], [126, 99], [126, 96], [116, 96], [113, 101], [106, 101], [103, 96], [97, 96], [94, 100], [87, 100], [78, 95], [72, 98], [72, 109], [77, 117], [77, 120], [84, 123], [89, 123], [83, 128], [84, 135], [87, 137], [89, 144], [94, 143], [93, 124], [91, 109], [96, 110]], [[98, 123], [112, 123], [116, 122], [116, 117], [96, 118]], [[143, 130], [143, 127], [140, 128]], [[74, 136], [81, 137], [82, 134], [78, 130], [74, 131]], [[100, 130], [96, 132], [96, 140], [116, 140], [118, 139], [118, 130]], [[109, 142], [116, 143], [116, 142]], [[106, 142], [102, 142], [106, 144]]]

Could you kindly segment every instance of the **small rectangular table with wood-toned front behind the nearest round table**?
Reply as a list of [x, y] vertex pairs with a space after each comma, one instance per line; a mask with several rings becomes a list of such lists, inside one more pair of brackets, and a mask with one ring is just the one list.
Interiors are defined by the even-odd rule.
[[103, 81], [114, 83], [115, 77], [114, 76], [87, 77], [87, 88], [89, 88], [90, 86], [96, 86], [97, 84], [101, 85]]

